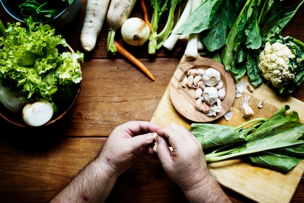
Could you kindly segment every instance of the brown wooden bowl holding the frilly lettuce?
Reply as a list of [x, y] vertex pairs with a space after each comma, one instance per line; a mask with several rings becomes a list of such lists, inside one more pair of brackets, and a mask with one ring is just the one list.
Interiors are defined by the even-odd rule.
[[[67, 47], [69, 51], [73, 52], [73, 49], [68, 45]], [[64, 102], [56, 102], [56, 106], [58, 107], [58, 111], [54, 113], [52, 118], [44, 125], [42, 126], [47, 126], [50, 125], [56, 121], [58, 121], [60, 118], [64, 117], [70, 108], [75, 104], [75, 102], [78, 99], [80, 90], [81, 90], [81, 82], [79, 84], [74, 84], [72, 87], [73, 90], [73, 95], [70, 97], [70, 99], [64, 101]], [[2, 103], [0, 102], [0, 117], [2, 117], [4, 120], [8, 121], [9, 123], [12, 123], [16, 126], [19, 127], [31, 127], [27, 125], [23, 118], [22, 118], [22, 112], [11, 112], [8, 109], [6, 109]], [[41, 127], [41, 126], [38, 126]]]

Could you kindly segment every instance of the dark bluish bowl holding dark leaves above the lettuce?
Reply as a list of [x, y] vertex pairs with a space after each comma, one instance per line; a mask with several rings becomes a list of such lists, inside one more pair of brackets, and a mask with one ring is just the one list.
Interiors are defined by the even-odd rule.
[[[25, 0], [0, 0], [4, 10], [17, 21], [25, 22], [25, 18], [20, 13], [19, 4]], [[77, 17], [78, 13], [81, 10], [81, 0], [72, 0], [71, 4], [68, 5], [62, 12], [57, 16], [41, 21], [43, 24], [51, 24], [55, 28], [64, 28], [70, 25], [74, 19]], [[37, 22], [40, 23], [40, 22]]]

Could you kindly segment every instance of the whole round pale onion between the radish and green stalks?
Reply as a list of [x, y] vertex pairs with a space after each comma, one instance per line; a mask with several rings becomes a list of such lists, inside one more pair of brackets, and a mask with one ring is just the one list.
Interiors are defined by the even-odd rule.
[[148, 24], [139, 17], [128, 18], [121, 26], [122, 39], [132, 46], [143, 45], [150, 36]]

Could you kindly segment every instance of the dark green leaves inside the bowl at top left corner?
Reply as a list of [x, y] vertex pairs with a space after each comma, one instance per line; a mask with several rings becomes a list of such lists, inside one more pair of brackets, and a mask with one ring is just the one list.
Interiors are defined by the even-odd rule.
[[19, 7], [22, 16], [41, 22], [57, 16], [70, 3], [71, 0], [26, 0]]

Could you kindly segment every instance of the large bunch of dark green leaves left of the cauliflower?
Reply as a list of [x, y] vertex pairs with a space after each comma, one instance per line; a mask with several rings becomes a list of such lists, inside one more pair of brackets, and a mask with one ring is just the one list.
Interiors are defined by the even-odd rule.
[[258, 55], [263, 43], [281, 34], [303, 3], [283, 6], [281, 0], [204, 0], [175, 34], [201, 33], [207, 49], [202, 55], [222, 63], [236, 82], [247, 74], [257, 86], [262, 83]]

